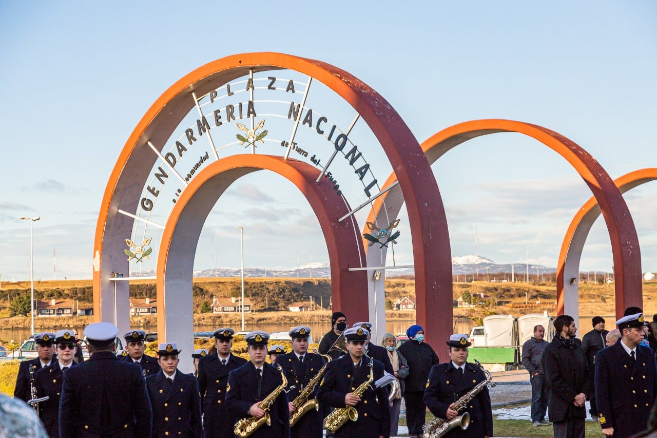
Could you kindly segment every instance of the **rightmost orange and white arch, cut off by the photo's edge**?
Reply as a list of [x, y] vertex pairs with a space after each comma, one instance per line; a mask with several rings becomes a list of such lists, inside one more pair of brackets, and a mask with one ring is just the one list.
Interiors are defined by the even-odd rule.
[[[646, 168], [635, 170], [614, 180], [620, 193], [625, 193], [637, 187], [637, 185], [657, 180], [657, 168]], [[570, 222], [568, 231], [561, 245], [559, 261], [556, 267], [556, 314], [568, 314], [574, 317], [579, 315], [579, 260], [581, 260], [581, 251], [584, 247], [591, 226], [600, 216], [600, 206], [595, 197], [592, 197], [581, 208]], [[639, 247], [635, 248], [639, 251]], [[614, 258], [614, 267], [616, 258]], [[641, 266], [639, 266], [641, 268]], [[639, 272], [641, 274], [641, 272]], [[577, 280], [571, 281], [570, 279]], [[618, 283], [616, 283], [616, 319], [620, 319], [629, 306], [639, 306], [643, 308], [641, 288], [639, 294], [625, 295], [625, 299], [618, 299]], [[635, 289], [631, 289], [635, 290]], [[622, 293], [622, 291], [620, 291]], [[577, 320], [576, 320], [577, 321]]]

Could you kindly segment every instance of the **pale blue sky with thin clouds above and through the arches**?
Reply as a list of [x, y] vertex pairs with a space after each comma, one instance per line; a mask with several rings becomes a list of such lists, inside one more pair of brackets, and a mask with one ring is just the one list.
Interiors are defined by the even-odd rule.
[[[278, 51], [344, 68], [386, 98], [419, 141], [458, 122], [510, 118], [566, 135], [612, 178], [657, 167], [656, 18], [654, 2], [614, 1], [2, 2], [0, 274], [28, 278], [29, 225], [18, 216], [39, 215], [35, 278], [53, 278], [53, 249], [57, 278], [91, 278], [102, 193], [133, 128], [179, 78], [235, 53]], [[453, 256], [475, 252], [477, 224], [480, 255], [524, 262], [528, 251], [530, 262], [556, 266], [590, 196], [565, 160], [520, 135], [470, 141], [432, 169]], [[646, 184], [626, 195], [644, 271], [657, 270], [656, 193]], [[309, 251], [328, 261], [311, 209], [275, 176], [239, 180], [215, 210], [198, 269], [213, 263], [212, 244], [215, 266], [239, 265], [237, 226], [247, 266], [289, 268], [297, 251], [300, 263]], [[405, 223], [397, 264], [412, 263]], [[599, 220], [581, 268], [611, 264]]]

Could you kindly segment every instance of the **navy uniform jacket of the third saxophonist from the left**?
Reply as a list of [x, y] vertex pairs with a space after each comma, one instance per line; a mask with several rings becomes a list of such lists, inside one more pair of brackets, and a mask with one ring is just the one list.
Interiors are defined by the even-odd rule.
[[[353, 373], [351, 356], [345, 354], [339, 359], [328, 362], [327, 371], [319, 387], [319, 401], [334, 408], [344, 408], [344, 397], [353, 393], [361, 383], [369, 379], [369, 363], [374, 364], [374, 381], [361, 395], [361, 401], [353, 406], [358, 412], [355, 422], [347, 420], [335, 436], [340, 438], [378, 438], [390, 436], [390, 406], [388, 391], [385, 387], [376, 389], [374, 382], [383, 376], [383, 364], [378, 360], [363, 355], [357, 372]], [[378, 402], [377, 402], [378, 398]], [[334, 411], [335, 412], [335, 411]]]

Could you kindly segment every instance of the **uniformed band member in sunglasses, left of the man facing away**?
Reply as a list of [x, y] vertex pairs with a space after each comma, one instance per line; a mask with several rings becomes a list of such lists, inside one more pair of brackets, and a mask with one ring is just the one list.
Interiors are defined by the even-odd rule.
[[59, 437], [59, 398], [62, 393], [64, 371], [77, 365], [73, 358], [76, 353], [76, 335], [73, 330], [59, 330], [55, 333], [57, 358], [49, 366], [41, 368], [35, 375], [37, 397], [48, 396], [47, 401], [39, 402], [39, 418], [50, 438]]

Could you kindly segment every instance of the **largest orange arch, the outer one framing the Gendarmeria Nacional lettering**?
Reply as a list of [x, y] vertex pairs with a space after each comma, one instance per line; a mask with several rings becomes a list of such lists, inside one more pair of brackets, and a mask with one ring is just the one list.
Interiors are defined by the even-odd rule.
[[[205, 64], [171, 85], [147, 110], [125, 143], [106, 186], [97, 222], [93, 254], [95, 320], [116, 322], [120, 329], [129, 328], [127, 281], [112, 282], [110, 278], [112, 272], [128, 272], [123, 249], [125, 237], [131, 234], [133, 220], [118, 210], [137, 210], [148, 174], [157, 159], [147, 141], [157, 151], [162, 151], [173, 130], [194, 108], [193, 92], [205, 95], [248, 74], [250, 69], [254, 72], [290, 69], [307, 74], [340, 95], [361, 115], [382, 145], [403, 192], [411, 223], [416, 291], [420, 296], [434, 297], [443, 287], [440, 295], [449, 295], [451, 310], [451, 254], [438, 185], [417, 139], [396, 110], [369, 85], [325, 62], [282, 53], [246, 53]], [[159, 259], [163, 255], [157, 256]], [[167, 276], [170, 274], [168, 272]], [[340, 275], [351, 274], [340, 272]], [[341, 283], [336, 278], [332, 281]], [[191, 301], [191, 289], [183, 293], [188, 293]], [[361, 289], [336, 290], [334, 302], [344, 301], [348, 293], [356, 295], [359, 303], [363, 303], [361, 306], [367, 306], [367, 290]], [[158, 302], [158, 306], [161, 305]], [[361, 310], [357, 308], [336, 310], [348, 310], [351, 315], [358, 315]], [[434, 305], [419, 312], [434, 312], [435, 308]], [[445, 335], [451, 333], [451, 322], [447, 326], [450, 330], [445, 331]], [[159, 335], [162, 337], [168, 333]], [[182, 345], [185, 349], [187, 344]]]

